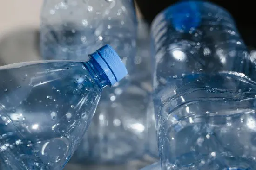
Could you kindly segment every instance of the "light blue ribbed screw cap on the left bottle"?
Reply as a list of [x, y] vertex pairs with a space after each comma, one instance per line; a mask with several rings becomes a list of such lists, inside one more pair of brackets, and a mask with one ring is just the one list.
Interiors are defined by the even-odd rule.
[[124, 78], [128, 72], [120, 57], [110, 45], [105, 45], [90, 55], [101, 66], [111, 86]]

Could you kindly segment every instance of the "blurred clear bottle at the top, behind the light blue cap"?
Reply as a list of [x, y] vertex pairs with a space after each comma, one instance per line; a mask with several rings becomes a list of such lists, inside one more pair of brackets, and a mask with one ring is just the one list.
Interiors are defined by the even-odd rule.
[[44, 0], [40, 28], [44, 59], [84, 61], [85, 54], [109, 44], [128, 63], [135, 55], [135, 36], [133, 0]]

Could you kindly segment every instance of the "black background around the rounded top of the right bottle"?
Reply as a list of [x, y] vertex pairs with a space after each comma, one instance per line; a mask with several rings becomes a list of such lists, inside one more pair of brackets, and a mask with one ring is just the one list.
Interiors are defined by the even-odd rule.
[[[180, 0], [136, 0], [143, 17], [151, 23], [166, 7]], [[224, 7], [234, 17], [236, 26], [247, 46], [256, 49], [256, 2], [255, 0], [208, 0]]]

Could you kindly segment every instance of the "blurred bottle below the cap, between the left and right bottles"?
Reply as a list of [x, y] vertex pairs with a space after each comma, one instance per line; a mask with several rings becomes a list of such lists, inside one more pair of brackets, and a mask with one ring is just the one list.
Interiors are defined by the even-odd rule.
[[[146, 23], [138, 23], [135, 74], [130, 75], [131, 83], [118, 97], [112, 94], [110, 101], [101, 101], [83, 142], [72, 157], [74, 162], [128, 163], [143, 159], [150, 144], [157, 149], [154, 113], [148, 109], [152, 91], [150, 31]], [[154, 154], [158, 155], [158, 151]]]

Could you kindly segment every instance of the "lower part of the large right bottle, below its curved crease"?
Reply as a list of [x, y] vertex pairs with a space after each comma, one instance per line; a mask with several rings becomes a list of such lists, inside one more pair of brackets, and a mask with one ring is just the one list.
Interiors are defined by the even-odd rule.
[[169, 87], [159, 108], [162, 170], [255, 169], [255, 85], [243, 74], [219, 73]]

